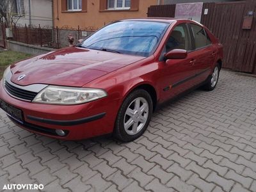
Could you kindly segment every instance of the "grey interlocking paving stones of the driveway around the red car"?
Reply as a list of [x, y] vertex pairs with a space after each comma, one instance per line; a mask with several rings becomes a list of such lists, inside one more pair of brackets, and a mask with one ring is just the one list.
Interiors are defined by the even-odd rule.
[[221, 71], [216, 90], [166, 105], [131, 143], [52, 140], [0, 111], [0, 166], [0, 190], [256, 191], [256, 79]]

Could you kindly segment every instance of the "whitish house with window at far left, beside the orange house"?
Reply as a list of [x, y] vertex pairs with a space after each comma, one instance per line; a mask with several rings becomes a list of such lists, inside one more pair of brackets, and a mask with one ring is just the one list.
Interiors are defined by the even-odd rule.
[[52, 0], [13, 0], [13, 13], [17, 26], [52, 27]]

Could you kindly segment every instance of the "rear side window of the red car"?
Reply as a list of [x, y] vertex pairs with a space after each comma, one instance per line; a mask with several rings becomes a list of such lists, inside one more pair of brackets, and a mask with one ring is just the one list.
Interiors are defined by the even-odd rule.
[[[196, 24], [190, 24], [192, 33], [195, 39], [195, 49], [200, 49], [202, 47], [205, 47], [209, 45], [209, 42], [207, 40], [207, 35], [204, 31], [204, 28], [196, 25]], [[211, 42], [211, 40], [210, 40]], [[210, 43], [211, 44], [211, 43]]]

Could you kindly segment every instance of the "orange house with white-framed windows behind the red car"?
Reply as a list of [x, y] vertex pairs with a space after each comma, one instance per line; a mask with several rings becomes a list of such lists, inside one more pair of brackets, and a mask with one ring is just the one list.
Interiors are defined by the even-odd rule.
[[147, 17], [157, 0], [53, 0], [54, 27], [99, 29], [113, 20]]

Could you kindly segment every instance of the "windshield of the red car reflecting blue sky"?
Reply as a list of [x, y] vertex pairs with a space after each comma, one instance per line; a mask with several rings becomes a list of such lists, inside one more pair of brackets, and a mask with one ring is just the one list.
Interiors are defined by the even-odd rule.
[[149, 56], [156, 49], [168, 23], [120, 21], [100, 29], [80, 45], [122, 54]]

